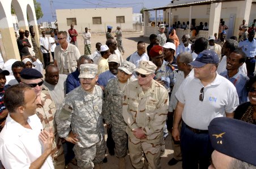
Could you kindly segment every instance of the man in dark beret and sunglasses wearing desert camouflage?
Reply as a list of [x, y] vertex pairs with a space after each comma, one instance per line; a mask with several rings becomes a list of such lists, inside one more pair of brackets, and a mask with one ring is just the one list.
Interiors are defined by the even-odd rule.
[[24, 68], [22, 72], [20, 72], [20, 79], [22, 83], [28, 84], [36, 92], [38, 102], [36, 114], [42, 123], [42, 127], [46, 128], [46, 130], [49, 127], [53, 128], [53, 133], [55, 136], [53, 141], [53, 149], [56, 149], [56, 151], [52, 154], [54, 168], [63, 169], [65, 168], [64, 152], [61, 139], [57, 134], [56, 123], [54, 121], [56, 106], [52, 97], [50, 97], [48, 90], [42, 88], [42, 83], [44, 81], [42, 81], [41, 78], [42, 74], [36, 69]]

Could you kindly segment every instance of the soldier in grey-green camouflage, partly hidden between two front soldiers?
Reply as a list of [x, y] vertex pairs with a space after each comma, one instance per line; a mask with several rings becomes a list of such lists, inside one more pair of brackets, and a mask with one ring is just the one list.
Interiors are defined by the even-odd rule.
[[111, 127], [115, 143], [115, 153], [119, 158], [119, 169], [126, 168], [125, 156], [127, 155], [126, 123], [122, 116], [123, 89], [127, 83], [134, 80], [133, 70], [136, 66], [129, 61], [123, 61], [118, 67], [117, 78], [111, 79], [105, 87], [103, 104], [103, 118], [108, 127]]

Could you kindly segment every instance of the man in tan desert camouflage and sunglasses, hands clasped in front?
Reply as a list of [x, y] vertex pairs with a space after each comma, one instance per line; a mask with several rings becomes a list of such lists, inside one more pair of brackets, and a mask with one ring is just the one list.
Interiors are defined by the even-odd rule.
[[143, 152], [148, 168], [161, 168], [169, 97], [164, 86], [153, 79], [156, 68], [151, 61], [140, 61], [135, 69], [138, 81], [127, 84], [123, 92], [123, 119], [127, 123], [128, 147], [134, 168], [143, 168]]

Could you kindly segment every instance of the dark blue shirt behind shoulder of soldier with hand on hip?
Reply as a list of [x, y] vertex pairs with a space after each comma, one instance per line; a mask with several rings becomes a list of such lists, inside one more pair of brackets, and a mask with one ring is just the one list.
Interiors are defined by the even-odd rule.
[[66, 94], [74, 90], [76, 87], [80, 86], [80, 80], [78, 78], [80, 72], [78, 72], [78, 68], [76, 68], [75, 72], [67, 75], [66, 79]]

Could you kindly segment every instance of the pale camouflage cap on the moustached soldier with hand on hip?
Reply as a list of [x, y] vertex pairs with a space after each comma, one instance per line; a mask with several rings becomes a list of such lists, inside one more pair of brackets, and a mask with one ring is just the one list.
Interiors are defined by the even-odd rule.
[[97, 75], [98, 66], [95, 64], [80, 65], [80, 74], [78, 78], [93, 79]]

